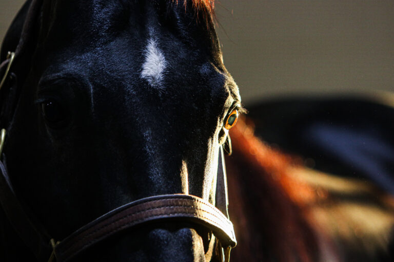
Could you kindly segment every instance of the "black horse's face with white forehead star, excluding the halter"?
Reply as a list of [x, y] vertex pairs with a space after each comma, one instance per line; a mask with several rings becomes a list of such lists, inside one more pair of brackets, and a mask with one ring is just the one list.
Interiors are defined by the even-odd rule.
[[[209, 15], [166, 1], [46, 1], [40, 28], [5, 150], [49, 233], [63, 239], [151, 195], [213, 203], [224, 121], [240, 97]], [[79, 258], [204, 261], [210, 238], [161, 223]]]

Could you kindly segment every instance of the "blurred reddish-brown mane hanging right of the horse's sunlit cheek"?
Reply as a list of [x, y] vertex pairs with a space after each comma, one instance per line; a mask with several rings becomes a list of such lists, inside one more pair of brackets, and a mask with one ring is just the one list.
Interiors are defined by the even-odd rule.
[[239, 243], [233, 260], [316, 261], [317, 239], [298, 201], [300, 195], [313, 199], [314, 191], [288, 174], [298, 161], [264, 144], [244, 119], [230, 135], [229, 212]]

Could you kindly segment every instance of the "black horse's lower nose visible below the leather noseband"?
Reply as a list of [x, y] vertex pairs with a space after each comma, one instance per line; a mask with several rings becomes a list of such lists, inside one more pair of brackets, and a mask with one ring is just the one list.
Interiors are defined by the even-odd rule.
[[[193, 228], [157, 224], [130, 230], [97, 244], [96, 252], [82, 252], [73, 261], [206, 262], [202, 237]], [[185, 225], [186, 226], [186, 225]]]

